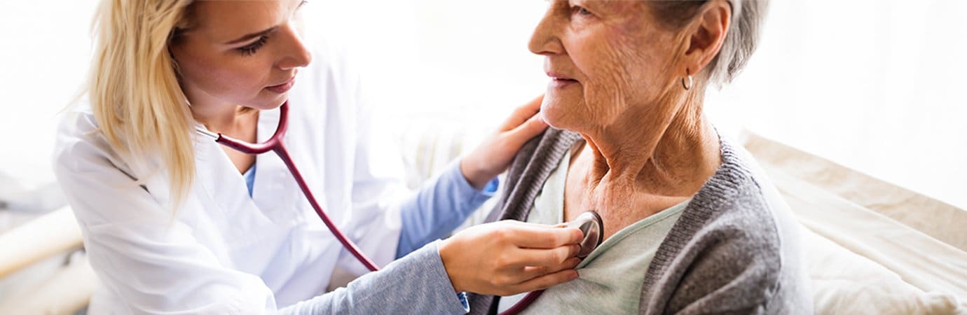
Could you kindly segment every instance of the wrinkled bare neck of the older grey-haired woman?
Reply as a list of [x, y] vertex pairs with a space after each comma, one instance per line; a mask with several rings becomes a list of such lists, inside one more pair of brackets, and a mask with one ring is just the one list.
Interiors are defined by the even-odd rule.
[[585, 181], [598, 197], [592, 199], [632, 193], [681, 200], [715, 174], [718, 134], [702, 114], [702, 94], [692, 90], [675, 106], [665, 101], [629, 106], [637, 112], [583, 134], [591, 156]]

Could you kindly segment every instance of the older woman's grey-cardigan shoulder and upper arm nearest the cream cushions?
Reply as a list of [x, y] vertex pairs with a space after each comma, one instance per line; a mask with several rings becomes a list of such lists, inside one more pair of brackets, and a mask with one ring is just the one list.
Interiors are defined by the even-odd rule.
[[[798, 227], [787, 207], [742, 148], [723, 139], [722, 159], [659, 247], [659, 266], [653, 269], [668, 274], [654, 274], [646, 282], [661, 278], [689, 287], [689, 297], [667, 297], [671, 309], [732, 304], [771, 312], [808, 303], [797, 265], [802, 261]], [[701, 306], [702, 301], [712, 304]]]

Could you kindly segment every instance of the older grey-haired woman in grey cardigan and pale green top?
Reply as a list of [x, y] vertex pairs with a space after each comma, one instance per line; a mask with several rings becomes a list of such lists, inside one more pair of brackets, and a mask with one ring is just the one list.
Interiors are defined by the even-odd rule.
[[[766, 3], [553, 1], [530, 50], [552, 127], [518, 153], [502, 218], [601, 215], [604, 241], [541, 313], [811, 313], [796, 222], [703, 114], [755, 48]], [[518, 297], [474, 296], [471, 311]]]

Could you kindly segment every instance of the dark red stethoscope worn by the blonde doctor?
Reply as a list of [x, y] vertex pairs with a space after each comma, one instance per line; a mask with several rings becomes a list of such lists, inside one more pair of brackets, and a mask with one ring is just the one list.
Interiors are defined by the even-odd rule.
[[[363, 263], [363, 265], [366, 266], [366, 269], [368, 269], [370, 272], [379, 271], [379, 267], [377, 267], [372, 260], [366, 257], [366, 254], [360, 250], [359, 246], [350, 241], [344, 234], [342, 234], [341, 231], [339, 231], [339, 228], [333, 223], [333, 220], [329, 218], [329, 215], [326, 215], [326, 213], [322, 211], [322, 207], [319, 206], [319, 202], [315, 200], [315, 196], [312, 194], [312, 190], [309, 190], [302, 173], [300, 173], [299, 169], [296, 168], [296, 164], [292, 161], [292, 157], [289, 156], [289, 152], [285, 150], [285, 145], [282, 144], [282, 137], [285, 136], [285, 130], [288, 129], [289, 126], [289, 101], [286, 100], [284, 103], [282, 103], [282, 106], [278, 108], [278, 111], [278, 127], [276, 128], [276, 133], [273, 134], [269, 140], [266, 140], [262, 143], [249, 143], [221, 133], [209, 131], [202, 126], [195, 127], [195, 130], [198, 131], [198, 133], [215, 139], [215, 142], [220, 143], [223, 146], [247, 155], [260, 155], [269, 151], [275, 152], [276, 155], [278, 155], [278, 158], [281, 158], [282, 162], [285, 163], [285, 167], [289, 169], [289, 173], [292, 173], [292, 177], [296, 180], [296, 183], [299, 184], [299, 188], [303, 191], [303, 194], [306, 195], [306, 199], [308, 200], [309, 205], [312, 206], [312, 209], [315, 210], [315, 214], [319, 215], [319, 218], [322, 219], [323, 223], [326, 223], [326, 227], [329, 228], [329, 231], [333, 233], [333, 236], [339, 240], [339, 243], [342, 243], [342, 247], [346, 248], [346, 250], [352, 253], [353, 256], [355, 256], [360, 263]], [[601, 244], [601, 235], [603, 234], [602, 232], [604, 230], [604, 225], [601, 223], [601, 216], [598, 214], [594, 212], [586, 212], [579, 215], [573, 221], [568, 222], [567, 226], [577, 227], [581, 229], [581, 232], [584, 233], [584, 239], [580, 243], [581, 249], [579, 250], [577, 257], [587, 257], [591, 251]], [[517, 302], [513, 305], [513, 307], [501, 314], [516, 314], [520, 312], [530, 305], [531, 302], [537, 300], [542, 293], [543, 290], [528, 293], [523, 300]]]

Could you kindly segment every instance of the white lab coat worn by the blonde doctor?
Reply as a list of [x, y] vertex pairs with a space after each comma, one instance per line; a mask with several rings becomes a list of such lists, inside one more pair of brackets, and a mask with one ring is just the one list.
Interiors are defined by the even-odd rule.
[[[359, 76], [323, 48], [296, 78], [284, 139], [323, 209], [377, 265], [396, 254], [405, 194], [396, 148], [372, 139]], [[260, 113], [258, 140], [278, 124]], [[210, 138], [197, 137], [197, 172], [177, 215], [157, 157], [112, 150], [89, 106], [63, 118], [55, 173], [100, 278], [92, 314], [251, 314], [324, 293], [340, 269], [366, 269], [312, 211], [275, 154], [257, 157], [253, 195]], [[136, 182], [136, 181], [141, 181]], [[140, 185], [140, 186], [139, 186]]]

